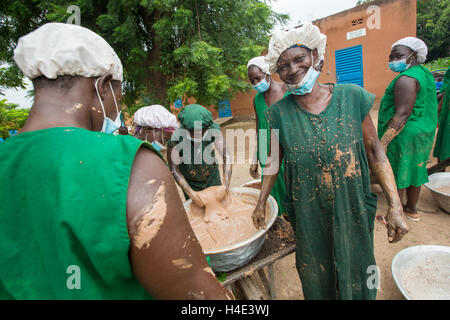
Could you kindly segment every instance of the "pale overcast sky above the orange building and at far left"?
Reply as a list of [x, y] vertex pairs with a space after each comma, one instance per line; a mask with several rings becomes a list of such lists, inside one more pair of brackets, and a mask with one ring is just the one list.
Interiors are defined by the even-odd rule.
[[[356, 2], [357, 0], [272, 0], [269, 4], [275, 12], [289, 14], [291, 19], [283, 27], [289, 29], [299, 25], [299, 21], [314, 21], [353, 8]], [[281, 26], [276, 25], [273, 31], [278, 29]], [[27, 90], [31, 87], [29, 84]], [[27, 90], [5, 90], [4, 95], [0, 94], [0, 100], [6, 98], [8, 102], [16, 103], [21, 108], [30, 108], [33, 100], [25, 97]]]

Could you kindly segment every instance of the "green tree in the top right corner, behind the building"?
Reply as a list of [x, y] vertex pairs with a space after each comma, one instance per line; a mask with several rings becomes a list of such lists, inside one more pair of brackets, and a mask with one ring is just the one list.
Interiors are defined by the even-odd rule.
[[428, 45], [428, 61], [450, 55], [450, 0], [417, 1], [417, 36]]

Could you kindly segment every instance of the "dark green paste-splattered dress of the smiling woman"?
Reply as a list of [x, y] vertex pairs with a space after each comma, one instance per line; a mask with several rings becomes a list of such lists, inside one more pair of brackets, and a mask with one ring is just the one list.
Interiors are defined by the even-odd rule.
[[361, 127], [374, 99], [356, 85], [337, 84], [318, 115], [302, 109], [293, 95], [265, 112], [284, 150], [285, 208], [305, 299], [376, 297], [377, 197]]

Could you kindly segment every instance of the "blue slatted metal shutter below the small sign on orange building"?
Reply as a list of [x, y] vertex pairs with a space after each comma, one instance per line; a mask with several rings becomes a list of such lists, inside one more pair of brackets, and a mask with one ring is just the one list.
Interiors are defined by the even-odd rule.
[[336, 82], [364, 88], [362, 45], [336, 50]]

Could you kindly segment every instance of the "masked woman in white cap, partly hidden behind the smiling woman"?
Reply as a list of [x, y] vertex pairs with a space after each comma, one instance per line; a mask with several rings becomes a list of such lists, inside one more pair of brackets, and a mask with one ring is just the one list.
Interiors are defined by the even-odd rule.
[[[256, 134], [257, 149], [253, 157], [253, 163], [250, 166], [250, 175], [254, 179], [258, 179], [258, 162], [261, 165], [262, 178], [264, 179], [264, 167], [266, 166], [267, 154], [269, 153], [269, 124], [264, 117], [264, 110], [268, 106], [274, 104], [278, 100], [287, 96], [286, 87], [270, 76], [269, 65], [264, 61], [264, 57], [256, 57], [251, 59], [247, 64], [248, 79], [253, 88], [258, 91], [253, 100], [253, 108], [256, 115]], [[270, 194], [275, 198], [278, 204], [278, 215], [287, 217], [286, 210], [283, 207], [284, 197], [286, 196], [286, 187], [283, 181], [284, 168], [281, 166], [280, 174], [272, 188]]]

